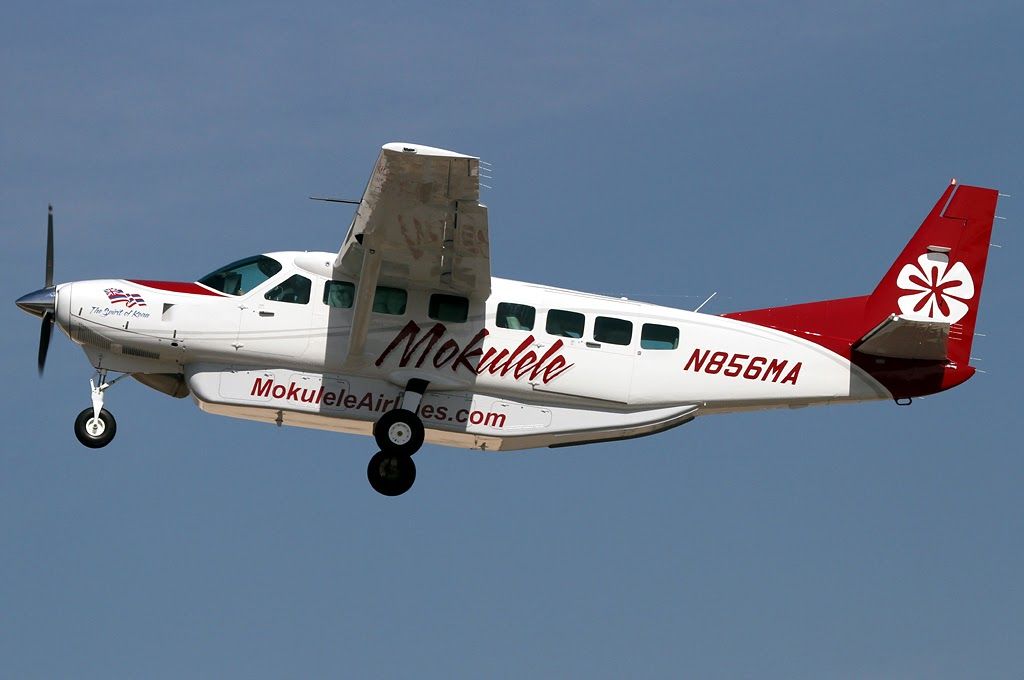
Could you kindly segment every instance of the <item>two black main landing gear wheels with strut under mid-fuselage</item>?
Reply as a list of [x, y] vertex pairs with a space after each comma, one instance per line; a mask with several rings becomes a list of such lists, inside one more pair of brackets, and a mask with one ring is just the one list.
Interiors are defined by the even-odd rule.
[[410, 380], [401, 403], [374, 423], [374, 439], [381, 448], [367, 467], [374, 491], [384, 496], [401, 496], [416, 481], [413, 454], [423, 445], [423, 421], [416, 410], [427, 389], [427, 381]]

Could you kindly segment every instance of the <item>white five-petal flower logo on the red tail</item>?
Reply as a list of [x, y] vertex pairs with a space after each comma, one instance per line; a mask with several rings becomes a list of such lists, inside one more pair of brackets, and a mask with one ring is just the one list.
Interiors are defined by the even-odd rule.
[[971, 272], [963, 262], [949, 266], [945, 253], [925, 253], [916, 263], [908, 262], [900, 269], [896, 286], [913, 291], [898, 300], [904, 315], [948, 324], [967, 315], [967, 301], [974, 297]]

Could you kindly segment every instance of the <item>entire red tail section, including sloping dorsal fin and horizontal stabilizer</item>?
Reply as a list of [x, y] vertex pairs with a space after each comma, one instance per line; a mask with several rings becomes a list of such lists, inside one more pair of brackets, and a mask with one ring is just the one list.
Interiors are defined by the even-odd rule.
[[995, 189], [950, 183], [870, 295], [723, 315], [823, 345], [895, 397], [958, 385], [974, 374], [971, 343], [997, 198]]

